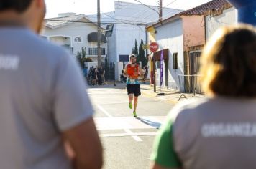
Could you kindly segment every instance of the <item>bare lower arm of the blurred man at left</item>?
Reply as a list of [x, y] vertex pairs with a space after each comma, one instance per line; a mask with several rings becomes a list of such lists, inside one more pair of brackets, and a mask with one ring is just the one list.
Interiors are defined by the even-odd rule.
[[68, 156], [75, 169], [99, 169], [103, 164], [102, 148], [93, 118], [63, 132]]

